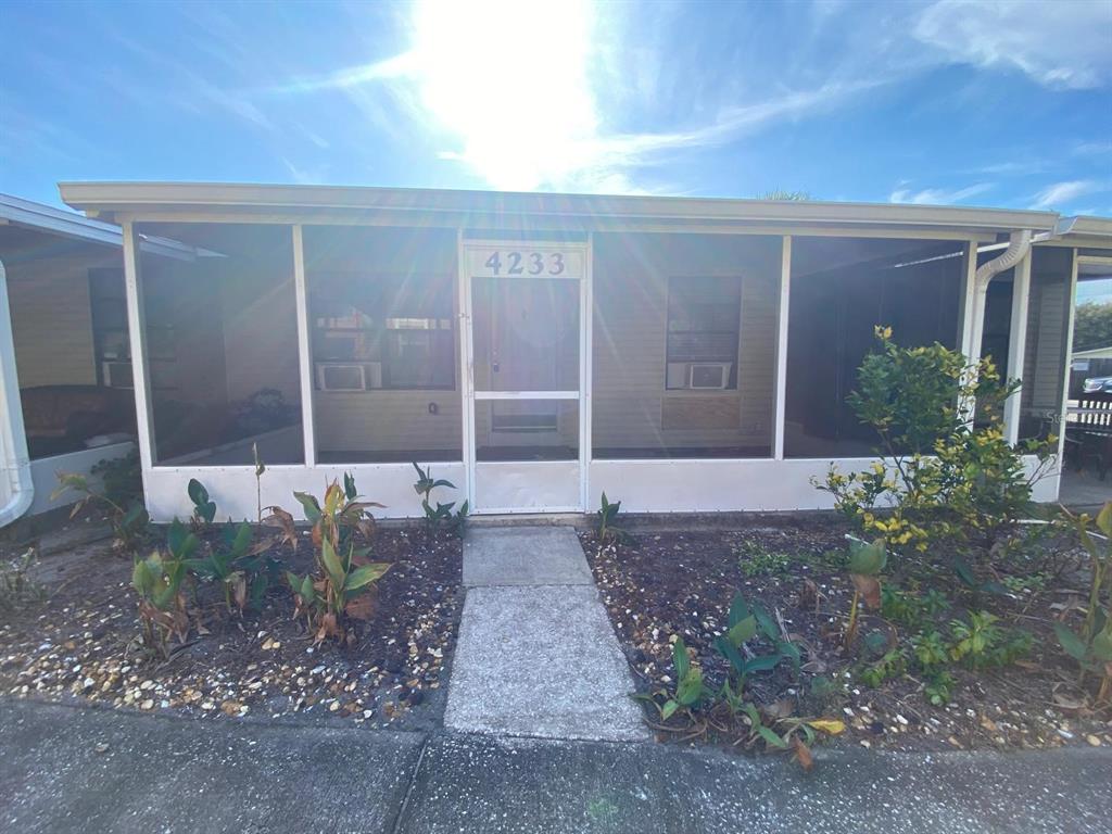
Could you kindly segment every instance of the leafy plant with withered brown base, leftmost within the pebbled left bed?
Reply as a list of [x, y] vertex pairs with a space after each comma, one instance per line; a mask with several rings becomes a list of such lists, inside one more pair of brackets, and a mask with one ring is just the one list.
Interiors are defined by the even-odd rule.
[[185, 642], [189, 636], [189, 613], [182, 580], [186, 563], [200, 542], [175, 520], [167, 532], [166, 554], [155, 550], [145, 559], [136, 559], [131, 570], [131, 587], [139, 595], [139, 622], [143, 644], [161, 655], [169, 654], [171, 637]]

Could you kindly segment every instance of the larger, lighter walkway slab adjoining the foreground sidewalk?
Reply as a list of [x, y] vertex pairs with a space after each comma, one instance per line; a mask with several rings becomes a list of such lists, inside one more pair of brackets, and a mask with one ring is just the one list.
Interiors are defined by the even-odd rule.
[[445, 725], [545, 738], [648, 737], [629, 667], [593, 586], [473, 587]]

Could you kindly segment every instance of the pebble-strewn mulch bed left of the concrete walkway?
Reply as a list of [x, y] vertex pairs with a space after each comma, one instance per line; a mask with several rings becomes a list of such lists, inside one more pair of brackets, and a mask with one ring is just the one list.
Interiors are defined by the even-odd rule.
[[[212, 529], [203, 538], [218, 535]], [[349, 718], [376, 727], [440, 719], [463, 599], [454, 536], [417, 526], [376, 532], [371, 555], [391, 568], [350, 646], [314, 645], [292, 620], [285, 583], [271, 586], [261, 610], [242, 617], [202, 584], [202, 628], [192, 628], [168, 661], [151, 658], [136, 639], [130, 556], [107, 542], [87, 549], [43, 558], [40, 574], [60, 579], [48, 586], [46, 602], [0, 610], [0, 693], [198, 716]], [[296, 553], [289, 545], [275, 553], [284, 568], [307, 573], [308, 532]], [[52, 564], [59, 558], [60, 570]]]

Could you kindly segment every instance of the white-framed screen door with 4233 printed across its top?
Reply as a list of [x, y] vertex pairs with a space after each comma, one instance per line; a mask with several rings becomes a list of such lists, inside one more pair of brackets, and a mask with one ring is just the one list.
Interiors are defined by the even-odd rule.
[[587, 245], [464, 241], [460, 270], [474, 512], [583, 512]]

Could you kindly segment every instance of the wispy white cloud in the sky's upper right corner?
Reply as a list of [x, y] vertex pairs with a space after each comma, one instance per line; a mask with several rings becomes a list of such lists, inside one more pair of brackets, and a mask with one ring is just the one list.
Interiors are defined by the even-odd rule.
[[915, 21], [915, 38], [953, 61], [1011, 67], [1050, 88], [1112, 79], [1112, 3], [1106, 0], [940, 0]]

